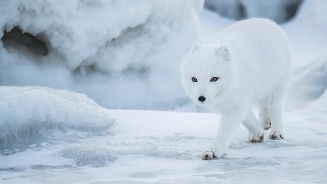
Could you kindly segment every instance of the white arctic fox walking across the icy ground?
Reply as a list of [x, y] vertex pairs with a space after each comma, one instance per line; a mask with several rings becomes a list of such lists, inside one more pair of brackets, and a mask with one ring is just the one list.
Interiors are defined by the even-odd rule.
[[[203, 160], [226, 153], [239, 124], [251, 142], [261, 142], [264, 129], [271, 139], [283, 139], [282, 104], [291, 69], [285, 32], [268, 19], [239, 21], [210, 44], [195, 45], [182, 66], [182, 84], [198, 105], [221, 113], [213, 147]], [[259, 105], [258, 121], [251, 105]]]

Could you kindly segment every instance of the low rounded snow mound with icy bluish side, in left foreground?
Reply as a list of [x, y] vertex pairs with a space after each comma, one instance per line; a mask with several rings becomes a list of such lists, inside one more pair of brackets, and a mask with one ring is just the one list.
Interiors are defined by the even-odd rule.
[[55, 132], [100, 133], [114, 119], [86, 95], [46, 87], [0, 87], [0, 149]]

